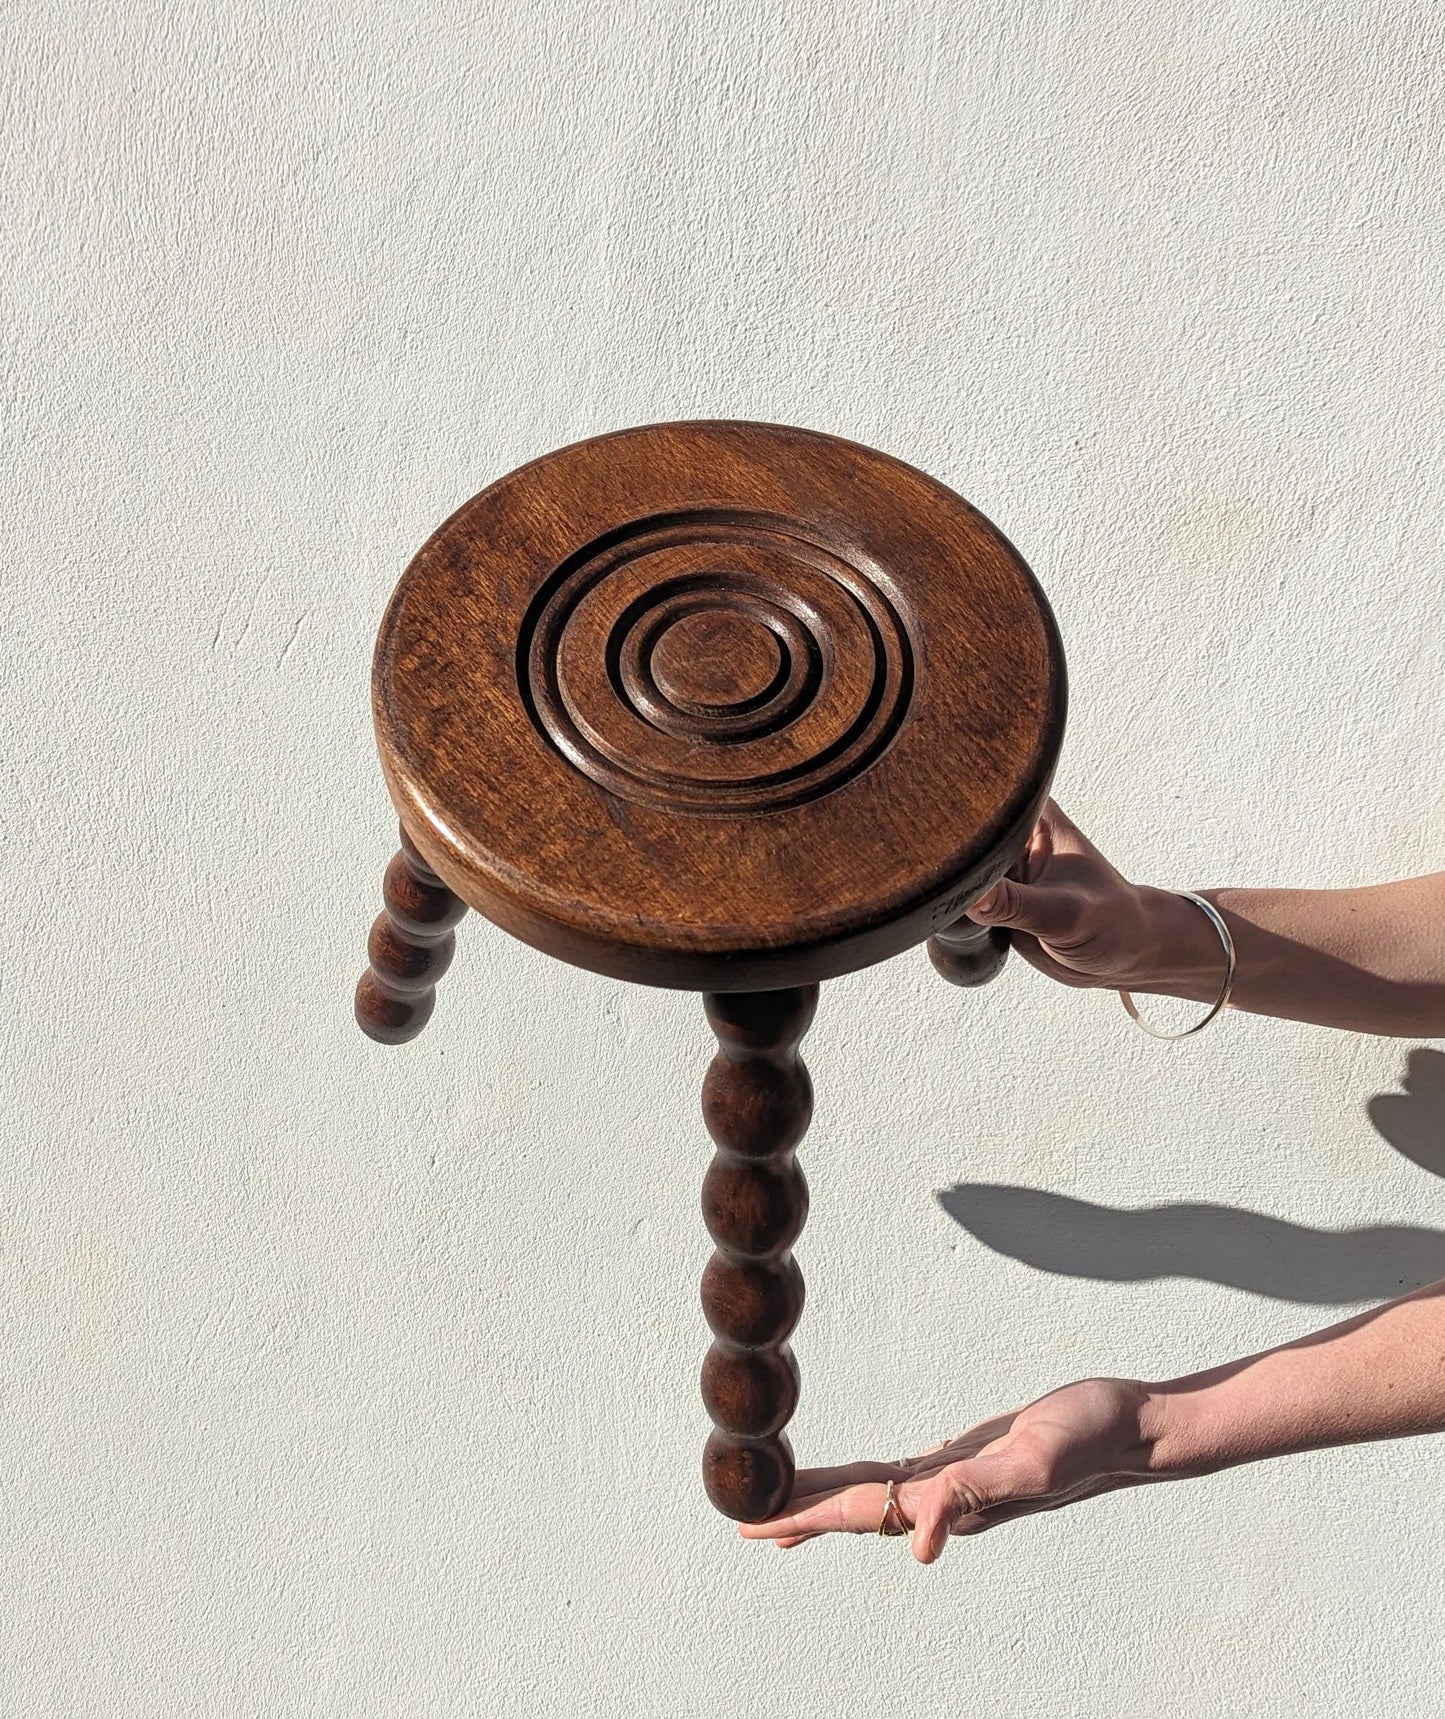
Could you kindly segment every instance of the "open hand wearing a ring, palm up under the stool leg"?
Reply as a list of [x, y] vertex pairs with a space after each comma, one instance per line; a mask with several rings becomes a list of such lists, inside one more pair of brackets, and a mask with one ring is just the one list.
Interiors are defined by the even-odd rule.
[[948, 1535], [1165, 1478], [1149, 1470], [1151, 1408], [1136, 1380], [1086, 1379], [904, 1463], [799, 1470], [787, 1508], [739, 1532], [782, 1549], [820, 1533], [876, 1533], [892, 1480], [912, 1556], [931, 1564]]

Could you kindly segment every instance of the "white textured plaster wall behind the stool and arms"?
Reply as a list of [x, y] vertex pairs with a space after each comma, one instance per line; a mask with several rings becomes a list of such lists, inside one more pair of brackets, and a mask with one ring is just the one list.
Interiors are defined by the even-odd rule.
[[[1069, 645], [1060, 796], [1134, 875], [1438, 866], [1442, 46], [1426, 0], [12, 3], [0, 1710], [1445, 1707], [1438, 1442], [933, 1571], [741, 1545], [696, 1000], [481, 921], [416, 1045], [349, 997], [393, 579], [668, 416], [993, 516]], [[1163, 1049], [914, 956], [809, 1061], [808, 1459], [1445, 1275], [1438, 1049]]]

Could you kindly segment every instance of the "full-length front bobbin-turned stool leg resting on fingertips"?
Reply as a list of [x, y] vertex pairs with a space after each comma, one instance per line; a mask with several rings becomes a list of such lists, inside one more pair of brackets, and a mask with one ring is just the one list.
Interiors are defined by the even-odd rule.
[[761, 1521], [792, 1492], [783, 1427], [797, 1406], [787, 1339], [802, 1312], [802, 1272], [789, 1251], [808, 1217], [794, 1147], [813, 1117], [813, 1081], [797, 1045], [818, 987], [708, 994], [718, 1054], [703, 1081], [703, 1119], [716, 1155], [703, 1181], [703, 1219], [716, 1251], [703, 1272], [715, 1343], [703, 1361], [713, 1434], [703, 1451], [708, 1497], [737, 1521]]

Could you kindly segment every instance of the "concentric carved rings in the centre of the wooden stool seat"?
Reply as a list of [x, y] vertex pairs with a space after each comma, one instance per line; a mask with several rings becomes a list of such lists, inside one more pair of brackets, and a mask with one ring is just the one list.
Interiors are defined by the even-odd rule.
[[699, 509], [588, 543], [541, 586], [517, 674], [598, 786], [668, 811], [797, 806], [854, 780], [907, 717], [893, 596], [813, 528]]

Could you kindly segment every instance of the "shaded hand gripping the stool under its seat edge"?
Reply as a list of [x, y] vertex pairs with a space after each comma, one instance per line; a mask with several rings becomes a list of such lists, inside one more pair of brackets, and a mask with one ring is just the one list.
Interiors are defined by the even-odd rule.
[[1052, 799], [1015, 870], [967, 918], [1007, 927], [1019, 954], [1060, 985], [1218, 992], [1220, 945], [1204, 915], [1131, 884]]

